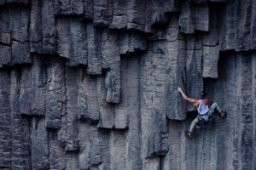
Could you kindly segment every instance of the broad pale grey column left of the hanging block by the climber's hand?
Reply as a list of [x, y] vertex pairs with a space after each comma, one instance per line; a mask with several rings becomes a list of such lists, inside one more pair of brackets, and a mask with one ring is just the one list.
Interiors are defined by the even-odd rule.
[[141, 70], [141, 117], [142, 117], [142, 144], [143, 169], [157, 169], [160, 158], [155, 156], [161, 133], [159, 118], [166, 116], [166, 55], [164, 42], [151, 42], [148, 53], [144, 54]]

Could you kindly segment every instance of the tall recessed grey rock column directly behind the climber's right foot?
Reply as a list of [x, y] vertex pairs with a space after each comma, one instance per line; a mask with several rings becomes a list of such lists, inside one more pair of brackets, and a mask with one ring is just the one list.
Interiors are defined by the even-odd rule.
[[[222, 109], [224, 111], [228, 112], [228, 116], [224, 120], [219, 120], [218, 115], [217, 117], [217, 126], [214, 128], [216, 139], [214, 139], [216, 142], [216, 145], [218, 143], [221, 143], [222, 140], [224, 140], [224, 146], [219, 146], [218, 150], [224, 150], [224, 155], [218, 156], [216, 155], [216, 151], [213, 152], [214, 155], [216, 155], [216, 158], [220, 161], [222, 160], [229, 160], [226, 161], [226, 166], [222, 166], [226, 169], [234, 169], [236, 168], [236, 165], [238, 163], [237, 159], [237, 129], [235, 127], [238, 126], [238, 122], [236, 121], [237, 116], [239, 114], [237, 113], [237, 110], [239, 109], [239, 105], [237, 103], [237, 96], [238, 96], [238, 87], [240, 87], [240, 83], [238, 82], [239, 78], [237, 74], [239, 72], [239, 65], [237, 63], [237, 56], [235, 51], [227, 51], [227, 52], [221, 52], [219, 55], [219, 77], [218, 80], [221, 80], [223, 83], [221, 83], [221, 89], [216, 88], [216, 91], [221, 94], [222, 97], [220, 97], [219, 94], [213, 93], [217, 96], [218, 103], [221, 105]], [[209, 83], [209, 86], [212, 87], [212, 83]], [[215, 96], [213, 95], [213, 96]], [[222, 100], [222, 101], [219, 101]], [[221, 134], [221, 137], [218, 136], [218, 134]], [[219, 140], [218, 140], [219, 139]], [[216, 148], [217, 149], [217, 148]], [[213, 155], [213, 156], [214, 156]], [[226, 159], [227, 158], [227, 159]], [[231, 158], [231, 159], [230, 159]], [[213, 167], [217, 168], [218, 161], [216, 163], [212, 164]]]

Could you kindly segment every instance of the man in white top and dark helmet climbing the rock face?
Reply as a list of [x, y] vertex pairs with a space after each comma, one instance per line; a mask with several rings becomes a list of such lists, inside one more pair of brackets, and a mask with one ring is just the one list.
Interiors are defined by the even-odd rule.
[[215, 109], [218, 111], [222, 118], [226, 116], [226, 111], [222, 111], [222, 109], [219, 107], [217, 103], [213, 103], [209, 109], [208, 99], [206, 98], [207, 93], [205, 91], [202, 91], [201, 94], [199, 94], [199, 99], [189, 98], [186, 94], [183, 93], [183, 90], [179, 87], [177, 88], [177, 91], [182, 94], [183, 99], [186, 99], [190, 103], [194, 104], [195, 108], [198, 111], [198, 116], [195, 118], [193, 122], [191, 122], [189, 132], [187, 133], [189, 137], [192, 137], [192, 132], [196, 123], [200, 122], [200, 120], [208, 121], [208, 118], [212, 117], [212, 113]]

